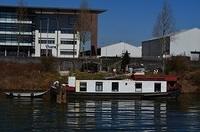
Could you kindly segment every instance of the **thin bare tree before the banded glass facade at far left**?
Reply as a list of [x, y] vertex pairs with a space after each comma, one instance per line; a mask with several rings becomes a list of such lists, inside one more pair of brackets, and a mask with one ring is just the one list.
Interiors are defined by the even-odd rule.
[[23, 21], [27, 19], [27, 9], [25, 7], [25, 2], [24, 0], [19, 0], [18, 1], [18, 8], [17, 8], [17, 56], [20, 54], [20, 43], [23, 42], [23, 32], [25, 31], [25, 26]]

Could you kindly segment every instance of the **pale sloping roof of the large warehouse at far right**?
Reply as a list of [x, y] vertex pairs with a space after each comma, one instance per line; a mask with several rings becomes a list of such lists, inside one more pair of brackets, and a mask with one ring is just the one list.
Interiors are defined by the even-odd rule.
[[156, 39], [160, 39], [160, 38], [164, 38], [164, 37], [170, 37], [170, 36], [174, 36], [174, 35], [177, 35], [177, 34], [180, 34], [180, 33], [184, 33], [184, 32], [188, 32], [188, 31], [191, 31], [191, 30], [200, 30], [200, 29], [199, 28], [184, 29], [184, 30], [180, 30], [180, 31], [177, 31], [177, 32], [173, 32], [173, 33], [167, 34], [165, 36], [153, 37], [153, 38], [147, 39], [147, 40], [145, 40], [143, 42], [152, 41], [152, 40], [156, 40]]

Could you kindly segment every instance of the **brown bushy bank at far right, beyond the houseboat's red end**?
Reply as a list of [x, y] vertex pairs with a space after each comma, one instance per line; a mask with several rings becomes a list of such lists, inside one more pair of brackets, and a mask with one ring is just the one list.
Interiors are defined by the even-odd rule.
[[172, 57], [167, 62], [166, 72], [177, 75], [182, 93], [200, 92], [200, 62], [191, 62], [182, 56]]

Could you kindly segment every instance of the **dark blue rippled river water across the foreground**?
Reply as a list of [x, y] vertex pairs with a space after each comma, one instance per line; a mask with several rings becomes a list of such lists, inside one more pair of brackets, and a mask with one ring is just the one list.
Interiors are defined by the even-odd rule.
[[199, 95], [163, 100], [0, 99], [0, 132], [200, 131]]

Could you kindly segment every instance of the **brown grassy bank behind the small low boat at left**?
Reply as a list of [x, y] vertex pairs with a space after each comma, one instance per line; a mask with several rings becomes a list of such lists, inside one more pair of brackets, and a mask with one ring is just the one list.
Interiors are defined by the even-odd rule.
[[0, 63], [0, 90], [45, 90], [59, 75], [42, 64]]

